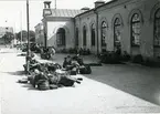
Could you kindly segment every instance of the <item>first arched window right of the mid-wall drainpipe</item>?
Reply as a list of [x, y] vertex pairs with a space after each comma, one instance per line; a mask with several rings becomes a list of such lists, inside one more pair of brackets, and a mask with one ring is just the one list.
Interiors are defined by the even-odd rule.
[[106, 29], [107, 24], [105, 21], [102, 22], [102, 46], [106, 46]]

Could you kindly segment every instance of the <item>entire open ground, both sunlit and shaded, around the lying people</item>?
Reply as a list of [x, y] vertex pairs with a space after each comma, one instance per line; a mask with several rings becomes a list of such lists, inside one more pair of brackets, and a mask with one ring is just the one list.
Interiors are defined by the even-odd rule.
[[[64, 54], [53, 61], [62, 62]], [[85, 58], [85, 62], [95, 59]], [[36, 91], [22, 79], [23, 56], [18, 51], [0, 51], [2, 114], [160, 114], [160, 69], [140, 65], [93, 66], [90, 75], [75, 87]]]

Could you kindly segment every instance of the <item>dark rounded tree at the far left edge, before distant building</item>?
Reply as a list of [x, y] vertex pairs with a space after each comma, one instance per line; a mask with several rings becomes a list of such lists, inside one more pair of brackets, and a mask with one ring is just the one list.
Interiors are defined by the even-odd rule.
[[12, 32], [6, 32], [6, 34], [2, 37], [2, 39], [6, 44], [9, 44], [14, 39], [14, 34]]

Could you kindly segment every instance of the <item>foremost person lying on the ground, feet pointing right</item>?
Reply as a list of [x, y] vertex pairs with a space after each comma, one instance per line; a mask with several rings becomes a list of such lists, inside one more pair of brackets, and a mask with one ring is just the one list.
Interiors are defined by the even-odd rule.
[[[79, 81], [82, 81], [82, 79], [74, 79], [67, 75], [61, 75], [60, 72], [54, 74], [45, 74], [41, 71], [39, 71], [38, 69], [34, 70], [34, 75], [32, 75], [32, 77], [30, 77], [31, 84], [34, 87], [40, 89], [43, 87], [43, 90], [47, 90], [50, 87], [50, 85], [57, 85], [57, 86], [73, 86], [74, 83], [81, 83]], [[49, 85], [47, 85], [49, 83]], [[42, 86], [43, 85], [43, 86]], [[42, 89], [40, 89], [42, 90]]]

